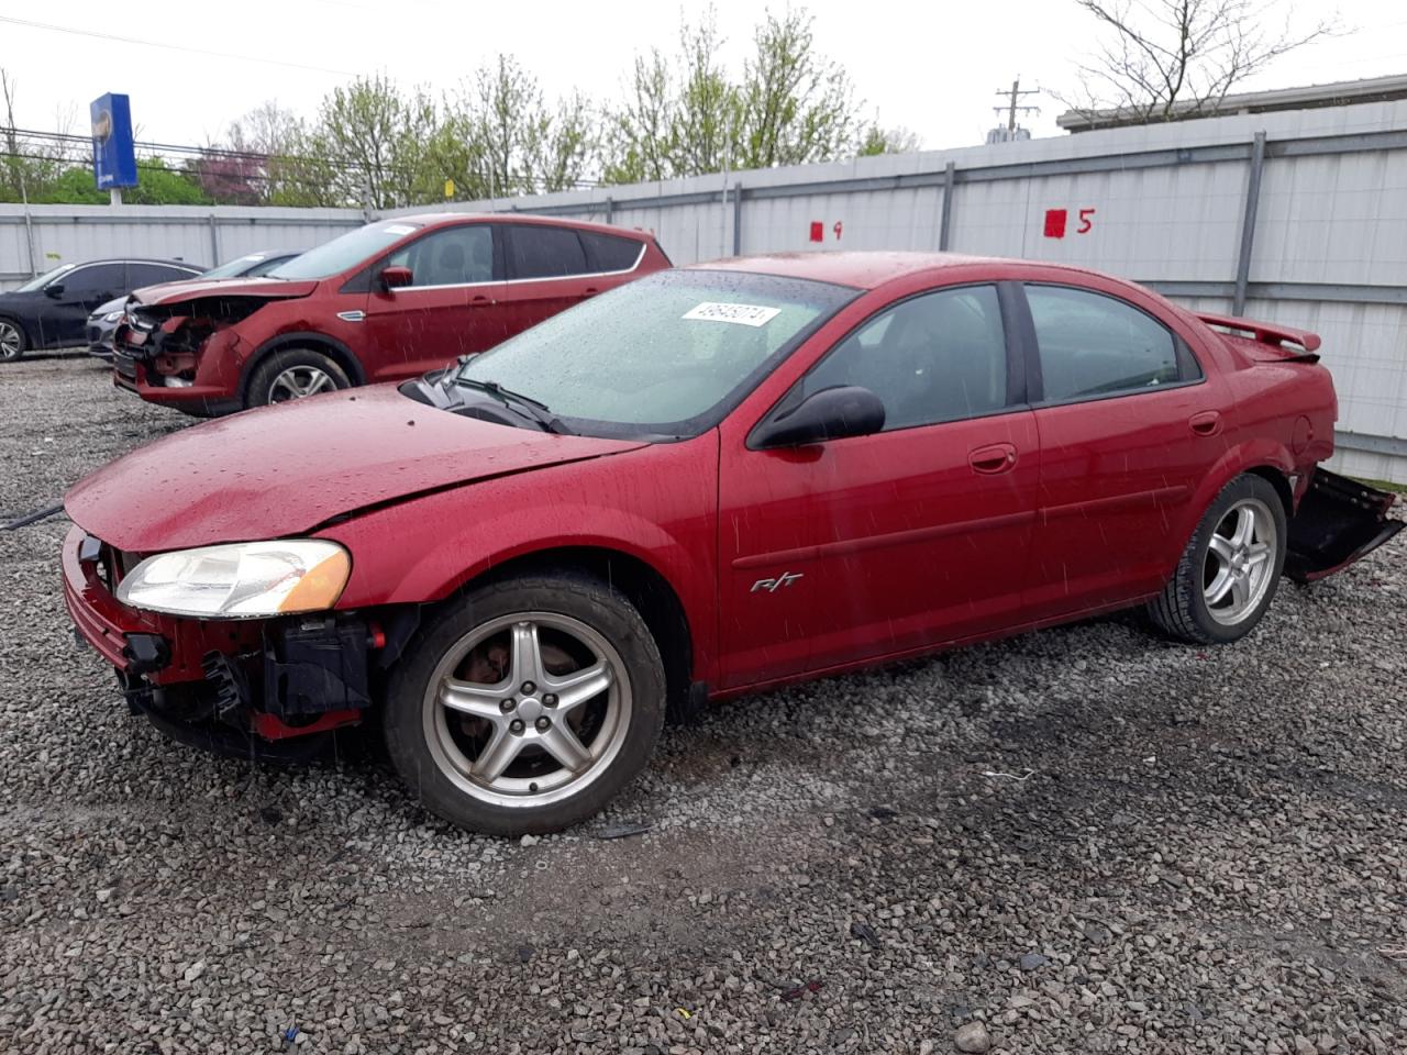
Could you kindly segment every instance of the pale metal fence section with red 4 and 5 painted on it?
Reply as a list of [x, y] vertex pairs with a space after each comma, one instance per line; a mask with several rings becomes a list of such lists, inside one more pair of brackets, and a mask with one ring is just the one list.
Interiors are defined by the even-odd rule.
[[815, 249], [1057, 260], [1313, 329], [1345, 471], [1407, 481], [1407, 103], [454, 205], [653, 231], [675, 263]]

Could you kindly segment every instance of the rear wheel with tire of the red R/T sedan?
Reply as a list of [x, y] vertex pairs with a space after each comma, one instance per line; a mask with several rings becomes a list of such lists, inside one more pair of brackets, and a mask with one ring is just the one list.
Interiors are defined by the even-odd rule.
[[1275, 487], [1258, 475], [1237, 477], [1192, 533], [1162, 595], [1148, 603], [1154, 625], [1196, 644], [1245, 637], [1275, 598], [1286, 539]]

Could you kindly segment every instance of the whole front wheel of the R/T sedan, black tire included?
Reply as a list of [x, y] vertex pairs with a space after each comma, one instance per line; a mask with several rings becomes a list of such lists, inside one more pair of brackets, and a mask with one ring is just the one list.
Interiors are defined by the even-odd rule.
[[507, 580], [450, 602], [387, 686], [386, 743], [407, 788], [471, 831], [559, 831], [644, 768], [664, 664], [620, 594], [571, 575]]

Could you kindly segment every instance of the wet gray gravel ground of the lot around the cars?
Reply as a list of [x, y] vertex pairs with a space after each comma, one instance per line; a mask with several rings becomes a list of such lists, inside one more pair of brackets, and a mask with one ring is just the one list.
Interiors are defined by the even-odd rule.
[[[184, 425], [3, 367], [0, 513]], [[0, 533], [6, 1052], [1407, 1051], [1403, 542], [1230, 648], [1116, 618], [720, 706], [519, 843], [128, 717], [65, 530]]]

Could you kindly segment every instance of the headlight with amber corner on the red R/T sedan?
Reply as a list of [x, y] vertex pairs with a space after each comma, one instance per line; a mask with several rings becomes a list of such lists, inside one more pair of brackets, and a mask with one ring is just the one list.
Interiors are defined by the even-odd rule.
[[117, 585], [117, 599], [205, 619], [322, 612], [350, 574], [350, 554], [321, 539], [201, 546], [148, 557]]

